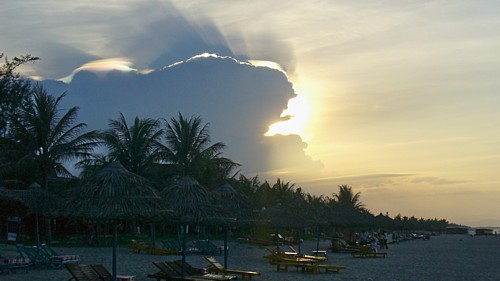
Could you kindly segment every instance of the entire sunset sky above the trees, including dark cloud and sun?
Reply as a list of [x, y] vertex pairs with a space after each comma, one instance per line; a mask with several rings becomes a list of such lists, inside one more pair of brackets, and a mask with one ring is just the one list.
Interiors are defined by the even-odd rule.
[[89, 128], [200, 115], [245, 175], [500, 226], [499, 13], [494, 0], [6, 0], [0, 52], [40, 57], [23, 74], [68, 91]]

